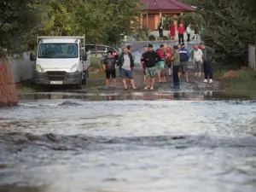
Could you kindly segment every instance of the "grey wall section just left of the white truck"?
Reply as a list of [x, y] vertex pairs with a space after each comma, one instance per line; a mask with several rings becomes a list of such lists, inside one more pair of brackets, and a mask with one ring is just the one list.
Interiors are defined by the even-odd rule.
[[10, 65], [15, 83], [33, 78], [35, 61], [30, 61], [30, 52], [23, 53], [19, 58], [11, 58]]

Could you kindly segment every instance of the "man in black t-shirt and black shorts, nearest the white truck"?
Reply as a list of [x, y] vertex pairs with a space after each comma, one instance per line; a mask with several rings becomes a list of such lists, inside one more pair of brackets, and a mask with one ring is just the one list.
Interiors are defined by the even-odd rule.
[[113, 88], [116, 87], [115, 63], [116, 63], [116, 59], [113, 56], [113, 52], [109, 50], [108, 57], [106, 57], [103, 61], [103, 67], [106, 72], [106, 88], [107, 89], [108, 89], [110, 76], [112, 76], [113, 78]]

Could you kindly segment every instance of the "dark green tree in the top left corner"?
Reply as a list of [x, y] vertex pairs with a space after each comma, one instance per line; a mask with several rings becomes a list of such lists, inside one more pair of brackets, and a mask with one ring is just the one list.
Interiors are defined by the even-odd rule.
[[0, 1], [0, 56], [29, 49], [32, 37], [41, 27], [42, 9], [36, 1]]

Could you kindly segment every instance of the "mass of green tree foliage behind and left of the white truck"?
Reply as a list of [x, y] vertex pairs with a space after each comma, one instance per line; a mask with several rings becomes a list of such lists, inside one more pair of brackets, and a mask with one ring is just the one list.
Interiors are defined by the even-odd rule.
[[88, 43], [117, 44], [142, 13], [138, 0], [2, 0], [0, 6], [0, 51], [9, 53], [28, 49], [36, 35], [85, 34]]

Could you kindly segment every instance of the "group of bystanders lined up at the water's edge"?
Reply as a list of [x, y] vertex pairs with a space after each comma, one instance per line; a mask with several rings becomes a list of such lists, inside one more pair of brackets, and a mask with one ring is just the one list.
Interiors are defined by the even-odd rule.
[[[144, 90], [154, 90], [155, 78], [158, 82], [166, 83], [166, 76], [172, 76], [175, 89], [179, 89], [181, 74], [189, 82], [189, 60], [195, 63], [195, 78], [201, 78], [202, 69], [205, 74], [205, 83], [212, 84], [212, 55], [214, 50], [206, 47], [205, 44], [195, 45], [189, 51], [185, 44], [177, 44], [171, 48], [171, 44], [160, 44], [160, 48], [154, 51], [153, 44], [144, 46], [144, 53], [141, 57], [143, 70]], [[108, 88], [110, 76], [113, 78], [113, 87], [116, 87], [115, 65], [119, 66], [119, 76], [122, 84], [127, 90], [130, 86], [137, 89], [133, 79], [134, 56], [131, 54], [131, 46], [123, 49], [119, 59], [116, 60], [112, 51], [108, 51], [108, 57], [103, 61], [106, 72], [106, 86]], [[209, 78], [209, 80], [208, 80]]]

